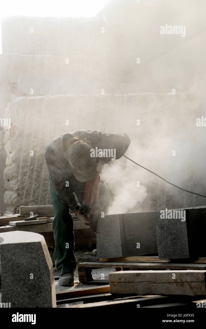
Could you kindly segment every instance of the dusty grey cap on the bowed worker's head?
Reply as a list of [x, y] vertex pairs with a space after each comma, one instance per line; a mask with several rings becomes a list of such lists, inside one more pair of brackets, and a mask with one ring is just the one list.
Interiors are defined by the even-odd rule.
[[74, 177], [80, 182], [90, 181], [96, 173], [96, 159], [90, 156], [92, 147], [78, 141], [68, 150], [68, 160], [72, 167]]

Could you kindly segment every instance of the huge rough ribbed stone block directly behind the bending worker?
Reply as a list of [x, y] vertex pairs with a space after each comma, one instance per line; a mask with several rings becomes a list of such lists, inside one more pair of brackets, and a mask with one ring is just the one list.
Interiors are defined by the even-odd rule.
[[[85, 128], [127, 133], [132, 140], [127, 156], [174, 184], [206, 193], [204, 164], [200, 161], [205, 157], [201, 151], [204, 146], [198, 146], [204, 138], [204, 127], [196, 127], [201, 102], [194, 94], [19, 97], [9, 104], [5, 114], [12, 118], [12, 127], [5, 129], [4, 136], [7, 211], [29, 200], [50, 203], [44, 148], [61, 133]], [[66, 119], [69, 126], [65, 125]], [[30, 156], [31, 150], [34, 156]], [[171, 156], [172, 150], [176, 150], [175, 157]], [[115, 209], [124, 207], [125, 212], [182, 208], [204, 202], [202, 197], [170, 187], [124, 158], [105, 167], [102, 177], [116, 200]], [[140, 188], [136, 181], [140, 181]], [[124, 198], [118, 202], [121, 195]]]

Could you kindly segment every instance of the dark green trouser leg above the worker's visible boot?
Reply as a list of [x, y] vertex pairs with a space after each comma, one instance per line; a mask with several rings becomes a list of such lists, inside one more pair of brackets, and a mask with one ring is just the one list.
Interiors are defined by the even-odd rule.
[[74, 256], [73, 220], [69, 214], [69, 207], [60, 200], [49, 182], [49, 195], [54, 208], [52, 228], [54, 231], [54, 260], [60, 274], [74, 272], [77, 265]]

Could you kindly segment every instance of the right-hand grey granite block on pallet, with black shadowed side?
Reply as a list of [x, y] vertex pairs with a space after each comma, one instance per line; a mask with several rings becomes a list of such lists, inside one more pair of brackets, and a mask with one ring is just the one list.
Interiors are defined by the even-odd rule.
[[158, 256], [162, 259], [205, 257], [206, 208], [185, 209], [185, 218], [157, 221]]

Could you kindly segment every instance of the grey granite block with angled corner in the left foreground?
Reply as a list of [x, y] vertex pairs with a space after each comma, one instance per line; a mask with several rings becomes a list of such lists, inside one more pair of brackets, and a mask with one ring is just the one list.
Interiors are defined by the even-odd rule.
[[53, 265], [42, 235], [1, 233], [0, 268], [0, 302], [14, 308], [56, 307]]

